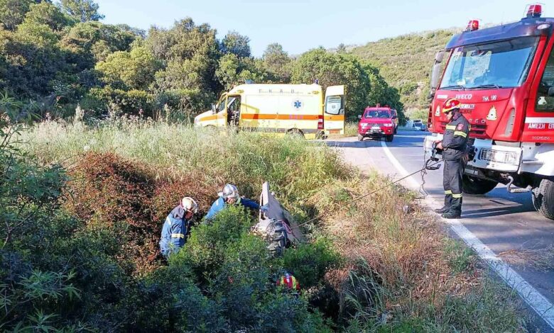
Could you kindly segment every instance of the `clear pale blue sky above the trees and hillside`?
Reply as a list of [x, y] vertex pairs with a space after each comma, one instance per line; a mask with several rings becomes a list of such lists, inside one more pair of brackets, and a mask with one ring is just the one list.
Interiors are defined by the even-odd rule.
[[[96, 0], [104, 23], [126, 23], [148, 30], [170, 28], [190, 16], [209, 23], [218, 38], [230, 30], [250, 38], [252, 54], [280, 43], [289, 55], [323, 46], [365, 45], [438, 28], [517, 21], [529, 2], [516, 0]], [[554, 3], [543, 5], [543, 17], [554, 16]]]

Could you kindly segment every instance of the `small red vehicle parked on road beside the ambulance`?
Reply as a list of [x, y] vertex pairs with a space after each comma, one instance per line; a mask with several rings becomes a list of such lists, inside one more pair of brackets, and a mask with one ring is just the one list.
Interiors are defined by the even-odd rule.
[[363, 141], [364, 137], [381, 139], [392, 142], [396, 130], [396, 113], [391, 108], [367, 107], [363, 115], [358, 115], [358, 140]]

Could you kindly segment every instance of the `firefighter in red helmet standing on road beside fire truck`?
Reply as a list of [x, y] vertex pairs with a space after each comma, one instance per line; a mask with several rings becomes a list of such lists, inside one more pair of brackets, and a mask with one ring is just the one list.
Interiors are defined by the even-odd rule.
[[467, 139], [469, 123], [460, 112], [460, 101], [450, 98], [442, 106], [448, 124], [442, 141], [435, 142], [437, 149], [442, 149], [444, 159], [444, 175], [442, 186], [445, 188], [445, 205], [436, 209], [435, 213], [442, 218], [460, 218], [462, 215], [462, 176], [467, 163]]

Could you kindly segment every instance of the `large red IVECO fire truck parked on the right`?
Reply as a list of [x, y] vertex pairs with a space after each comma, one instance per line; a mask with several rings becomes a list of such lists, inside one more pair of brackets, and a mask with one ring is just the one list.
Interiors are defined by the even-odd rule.
[[459, 99], [471, 126], [464, 192], [505, 184], [531, 192], [536, 210], [554, 219], [554, 18], [542, 10], [529, 5], [520, 21], [491, 28], [469, 21], [435, 55], [424, 147], [442, 140], [442, 104]]

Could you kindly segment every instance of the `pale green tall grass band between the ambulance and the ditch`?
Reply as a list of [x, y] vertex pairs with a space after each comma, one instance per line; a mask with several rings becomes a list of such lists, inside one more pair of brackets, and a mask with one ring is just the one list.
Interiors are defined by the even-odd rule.
[[234, 183], [247, 195], [259, 193], [261, 183], [271, 181], [273, 190], [290, 200], [352, 176], [352, 169], [322, 143], [180, 124], [46, 122], [23, 133], [21, 140], [23, 149], [43, 163], [67, 164], [87, 151], [114, 152], [147, 164], [157, 177], [203, 175], [207, 184]]

